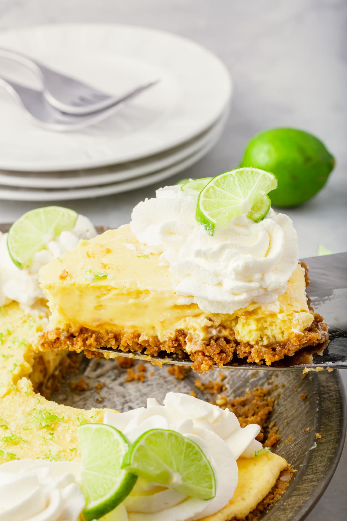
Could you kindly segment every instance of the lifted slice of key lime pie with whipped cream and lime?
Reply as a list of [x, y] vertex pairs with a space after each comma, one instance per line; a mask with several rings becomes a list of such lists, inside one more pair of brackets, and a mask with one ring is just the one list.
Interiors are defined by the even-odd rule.
[[52, 316], [40, 349], [100, 348], [271, 364], [328, 338], [307, 306], [292, 221], [275, 214], [271, 173], [250, 168], [157, 190], [130, 225], [45, 265]]

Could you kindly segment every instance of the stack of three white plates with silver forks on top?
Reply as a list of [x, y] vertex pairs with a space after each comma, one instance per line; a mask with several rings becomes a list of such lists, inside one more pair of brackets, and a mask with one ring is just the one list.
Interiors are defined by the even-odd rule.
[[[69, 24], [4, 32], [0, 46], [115, 95], [160, 80], [109, 119], [65, 133], [34, 126], [0, 89], [0, 199], [82, 199], [144, 187], [196, 163], [224, 128], [229, 73], [207, 49], [180, 36]], [[1, 73], [8, 72], [40, 87], [31, 72], [1, 61]]]

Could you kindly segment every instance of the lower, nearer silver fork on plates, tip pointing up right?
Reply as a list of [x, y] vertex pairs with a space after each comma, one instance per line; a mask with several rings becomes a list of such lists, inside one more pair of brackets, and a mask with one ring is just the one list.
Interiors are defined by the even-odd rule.
[[123, 97], [118, 98], [111, 106], [103, 110], [84, 116], [76, 116], [66, 114], [52, 107], [52, 105], [47, 102], [42, 91], [30, 89], [29, 87], [25, 87], [15, 81], [0, 76], [0, 86], [4, 87], [6, 91], [14, 97], [27, 118], [40, 127], [58, 131], [78, 130], [94, 125], [114, 114], [115, 111], [119, 110], [126, 102], [133, 100], [156, 83], [156, 81], [151, 82], [128, 92]]

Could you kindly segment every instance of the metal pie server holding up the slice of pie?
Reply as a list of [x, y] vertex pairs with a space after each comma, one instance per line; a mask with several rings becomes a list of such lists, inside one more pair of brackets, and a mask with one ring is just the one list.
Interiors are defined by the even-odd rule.
[[[302, 259], [309, 266], [311, 284], [307, 296], [314, 311], [322, 315], [329, 326], [329, 342], [302, 348], [293, 356], [285, 356], [271, 366], [249, 364], [235, 358], [225, 369], [300, 369], [309, 370], [347, 368], [347, 252]], [[119, 349], [98, 350], [107, 356], [127, 356], [156, 364], [190, 366], [191, 362], [175, 355], [147, 356], [142, 353], [123, 353]], [[217, 369], [217, 366], [214, 366]]]

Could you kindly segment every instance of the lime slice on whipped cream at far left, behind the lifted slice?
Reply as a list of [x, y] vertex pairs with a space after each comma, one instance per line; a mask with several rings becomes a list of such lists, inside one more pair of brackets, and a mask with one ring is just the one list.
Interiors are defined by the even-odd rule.
[[31, 265], [35, 253], [44, 249], [62, 231], [71, 230], [78, 214], [61, 206], [35, 208], [22, 215], [11, 226], [7, 249], [12, 261], [20, 269]]

